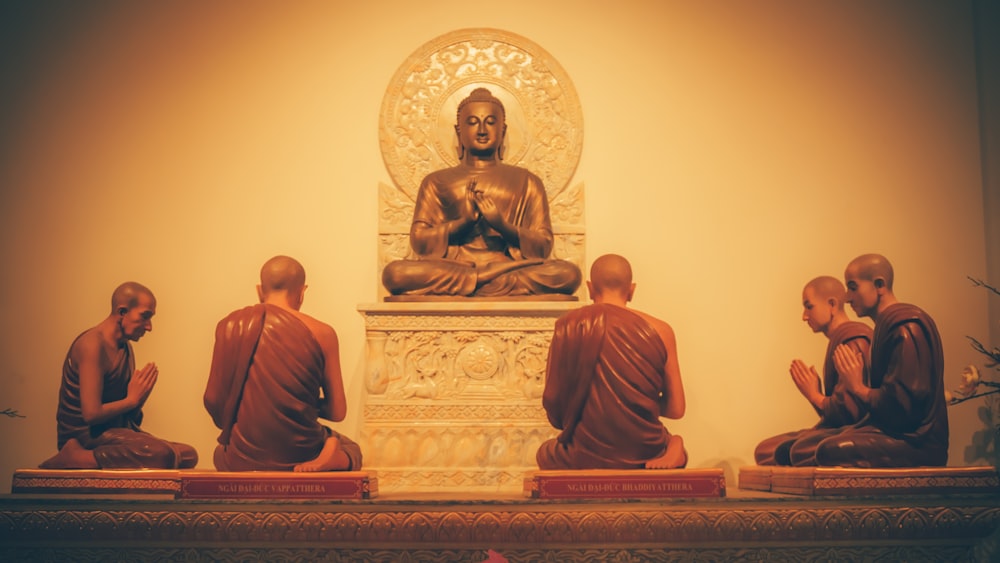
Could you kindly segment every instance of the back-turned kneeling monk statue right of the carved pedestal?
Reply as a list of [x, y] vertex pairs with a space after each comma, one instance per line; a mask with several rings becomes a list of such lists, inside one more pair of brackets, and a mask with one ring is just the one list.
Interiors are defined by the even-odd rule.
[[684, 416], [677, 343], [667, 323], [626, 307], [635, 284], [628, 261], [594, 261], [592, 305], [556, 321], [542, 405], [562, 430], [544, 442], [541, 469], [671, 469], [687, 454], [659, 416]]

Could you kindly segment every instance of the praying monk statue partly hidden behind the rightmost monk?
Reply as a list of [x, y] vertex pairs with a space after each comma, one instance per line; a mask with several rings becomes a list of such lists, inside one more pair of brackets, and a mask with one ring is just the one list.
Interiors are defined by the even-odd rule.
[[868, 349], [872, 329], [847, 318], [844, 312], [844, 284], [831, 276], [820, 276], [802, 289], [802, 320], [813, 332], [828, 339], [826, 360], [823, 362], [823, 384], [820, 386], [816, 368], [806, 367], [802, 360], [793, 360], [789, 368], [792, 382], [816, 410], [819, 421], [805, 430], [795, 430], [772, 436], [757, 445], [754, 458], [760, 465], [816, 465], [816, 445], [845, 426], [861, 420], [867, 412], [847, 388], [837, 373], [833, 352], [844, 345], [861, 355], [867, 375]]

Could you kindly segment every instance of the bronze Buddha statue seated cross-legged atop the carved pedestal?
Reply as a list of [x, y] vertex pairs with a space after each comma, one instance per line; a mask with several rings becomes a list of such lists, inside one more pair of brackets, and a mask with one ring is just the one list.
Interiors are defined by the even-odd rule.
[[552, 225], [538, 176], [502, 162], [503, 104], [477, 88], [458, 105], [458, 166], [420, 184], [410, 246], [415, 260], [390, 262], [393, 295], [465, 297], [572, 295], [580, 269], [550, 259]]

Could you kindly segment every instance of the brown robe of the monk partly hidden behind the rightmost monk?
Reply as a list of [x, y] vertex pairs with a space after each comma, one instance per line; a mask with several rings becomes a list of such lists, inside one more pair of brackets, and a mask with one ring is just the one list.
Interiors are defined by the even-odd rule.
[[823, 362], [823, 394], [827, 400], [823, 409], [816, 410], [819, 421], [805, 430], [795, 430], [772, 436], [757, 445], [754, 459], [760, 465], [815, 465], [816, 446], [834, 430], [857, 423], [867, 412], [857, 397], [847, 391], [833, 362], [833, 351], [841, 344], [864, 358], [864, 378], [868, 384], [868, 351], [872, 329], [864, 323], [842, 323], [827, 335], [826, 361]]

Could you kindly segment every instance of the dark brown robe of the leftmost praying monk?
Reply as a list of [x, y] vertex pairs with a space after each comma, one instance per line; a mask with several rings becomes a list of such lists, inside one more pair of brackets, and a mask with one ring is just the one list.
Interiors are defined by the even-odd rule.
[[[71, 352], [63, 361], [56, 410], [57, 446], [60, 449], [75, 438], [84, 448], [93, 451], [101, 469], [178, 469], [197, 465], [198, 453], [193, 447], [162, 440], [142, 430], [141, 407], [100, 424], [88, 425], [83, 420], [80, 372], [73, 363], [72, 349], [73, 346], [70, 346]], [[101, 403], [124, 399], [128, 395], [128, 384], [134, 370], [132, 345], [126, 343], [114, 367], [104, 374]]]

